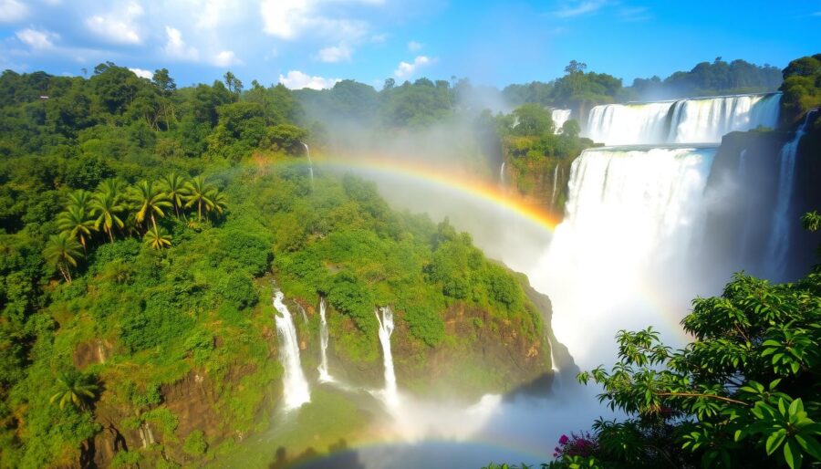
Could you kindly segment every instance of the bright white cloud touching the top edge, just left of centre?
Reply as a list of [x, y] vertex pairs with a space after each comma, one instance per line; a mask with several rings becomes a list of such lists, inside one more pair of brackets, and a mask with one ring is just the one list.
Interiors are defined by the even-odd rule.
[[367, 36], [369, 24], [359, 19], [324, 16], [320, 8], [323, 4], [365, 4], [381, 5], [381, 0], [263, 0], [260, 14], [263, 31], [292, 40], [303, 33], [313, 36], [332, 37], [348, 43]]

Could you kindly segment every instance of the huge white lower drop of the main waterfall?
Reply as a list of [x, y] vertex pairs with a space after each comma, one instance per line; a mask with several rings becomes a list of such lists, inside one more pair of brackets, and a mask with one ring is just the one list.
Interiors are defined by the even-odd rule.
[[[582, 368], [612, 360], [619, 328], [679, 330], [657, 303], [674, 303], [672, 292], [693, 297], [691, 279], [662, 289], [659, 273], [690, 272], [714, 155], [714, 148], [599, 148], [573, 162], [565, 219], [531, 279], [553, 301], [556, 338]], [[683, 316], [686, 300], [675, 306], [667, 309]]]

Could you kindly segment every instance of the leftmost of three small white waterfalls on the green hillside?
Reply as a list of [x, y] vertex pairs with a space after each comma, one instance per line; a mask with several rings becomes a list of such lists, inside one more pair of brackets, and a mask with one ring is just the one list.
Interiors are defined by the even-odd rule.
[[274, 317], [276, 332], [279, 335], [279, 356], [284, 370], [283, 394], [286, 410], [296, 409], [311, 401], [305, 373], [299, 360], [299, 340], [296, 338], [296, 327], [291, 312], [283, 299], [285, 295], [279, 290], [274, 293], [274, 307], [282, 316]]

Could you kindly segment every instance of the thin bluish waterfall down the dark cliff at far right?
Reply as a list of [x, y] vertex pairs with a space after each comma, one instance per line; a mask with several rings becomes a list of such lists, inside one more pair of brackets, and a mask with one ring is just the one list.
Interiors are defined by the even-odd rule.
[[775, 197], [775, 214], [773, 220], [773, 231], [767, 244], [767, 253], [770, 265], [770, 277], [773, 279], [783, 278], [787, 266], [787, 254], [789, 252], [790, 228], [797, 223], [794, 219], [792, 208], [793, 186], [795, 184], [795, 155], [798, 152], [798, 144], [806, 133], [810, 118], [816, 110], [806, 113], [804, 122], [795, 131], [793, 140], [785, 143], [778, 155], [778, 193]]

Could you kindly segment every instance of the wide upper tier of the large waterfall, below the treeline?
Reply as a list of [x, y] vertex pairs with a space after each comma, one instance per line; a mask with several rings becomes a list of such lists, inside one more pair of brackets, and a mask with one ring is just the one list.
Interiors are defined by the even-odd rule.
[[587, 137], [607, 145], [719, 143], [733, 130], [775, 127], [781, 95], [738, 95], [590, 110]]

